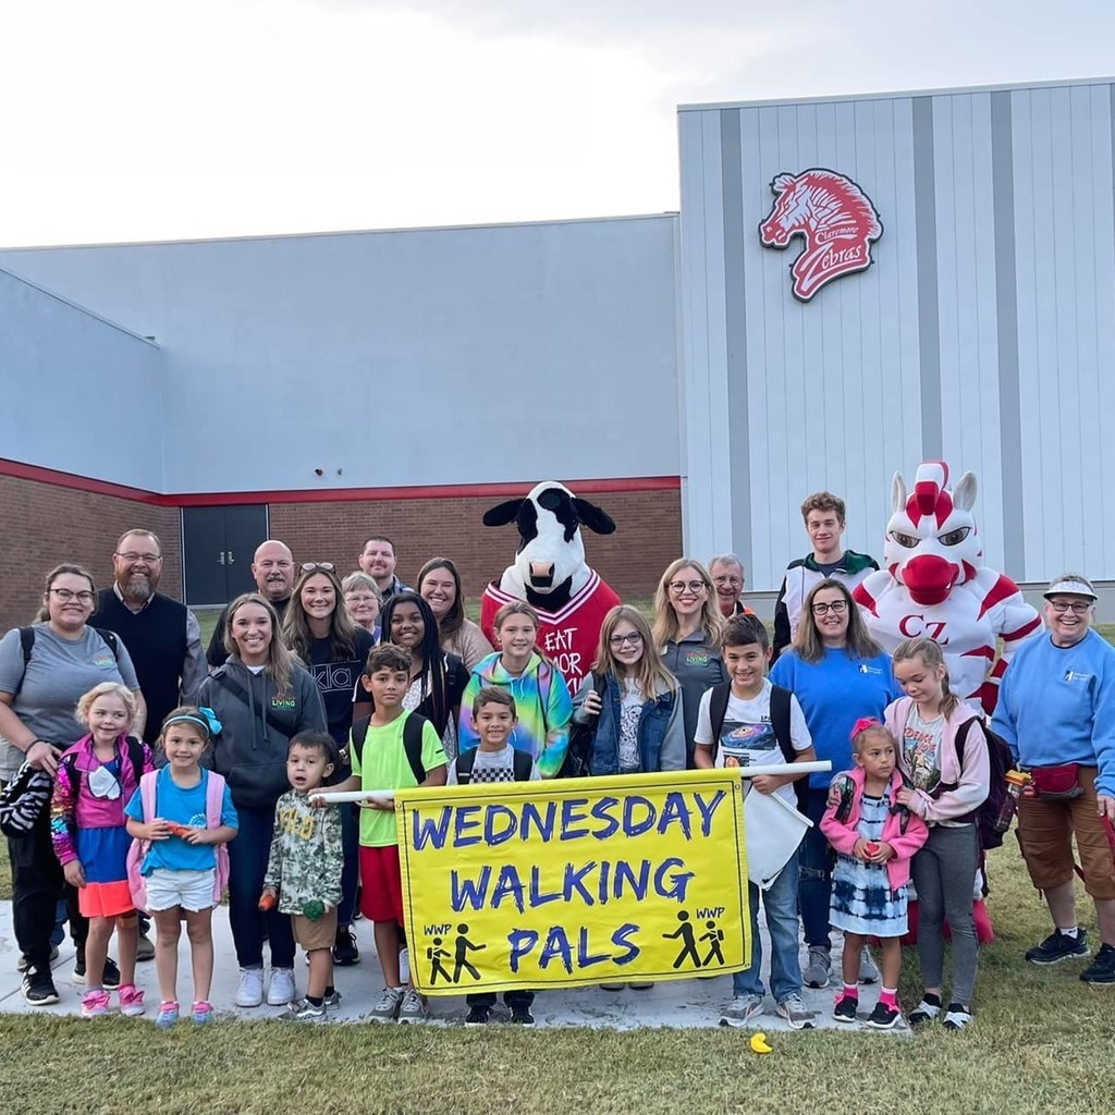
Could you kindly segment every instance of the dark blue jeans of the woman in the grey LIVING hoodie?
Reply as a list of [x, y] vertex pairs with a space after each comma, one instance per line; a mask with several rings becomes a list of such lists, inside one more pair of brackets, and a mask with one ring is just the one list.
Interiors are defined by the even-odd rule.
[[237, 805], [240, 831], [229, 845], [229, 921], [241, 968], [263, 967], [263, 931], [271, 946], [272, 968], [294, 967], [294, 935], [290, 918], [273, 908], [260, 910], [263, 876], [268, 872], [274, 806], [266, 809]]

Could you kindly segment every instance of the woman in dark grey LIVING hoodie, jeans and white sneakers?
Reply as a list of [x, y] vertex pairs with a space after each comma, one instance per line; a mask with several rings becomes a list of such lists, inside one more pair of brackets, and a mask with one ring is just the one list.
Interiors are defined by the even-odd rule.
[[213, 765], [224, 775], [240, 817], [229, 845], [229, 920], [240, 963], [237, 1007], [263, 1001], [263, 938], [271, 947], [268, 1002], [294, 998], [294, 938], [290, 918], [259, 909], [274, 835], [275, 802], [288, 788], [291, 737], [323, 730], [326, 710], [318, 685], [291, 660], [279, 638], [279, 617], [258, 592], [237, 597], [227, 611], [229, 660], [197, 691], [197, 704], [221, 721]]

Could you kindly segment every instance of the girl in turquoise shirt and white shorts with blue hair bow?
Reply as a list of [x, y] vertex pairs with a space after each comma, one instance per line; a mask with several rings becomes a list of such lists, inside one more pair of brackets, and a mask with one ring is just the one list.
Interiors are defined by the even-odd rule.
[[[213, 981], [213, 906], [220, 901], [216, 845], [236, 835], [236, 811], [224, 778], [201, 766], [220, 724], [211, 709], [183, 706], [163, 723], [158, 744], [166, 755], [162, 770], [144, 777], [125, 809], [128, 833], [140, 846], [139, 873], [147, 910], [155, 919], [155, 972], [162, 1000], [155, 1025], [178, 1020], [178, 934], [186, 922], [194, 976], [194, 1024], [213, 1020], [209, 1002]], [[149, 783], [148, 783], [149, 779]], [[144, 793], [151, 808], [144, 808]], [[210, 801], [220, 794], [220, 824], [211, 826]], [[215, 820], [215, 818], [214, 818]], [[183, 833], [182, 830], [188, 830]], [[123, 989], [122, 989], [123, 991]]]

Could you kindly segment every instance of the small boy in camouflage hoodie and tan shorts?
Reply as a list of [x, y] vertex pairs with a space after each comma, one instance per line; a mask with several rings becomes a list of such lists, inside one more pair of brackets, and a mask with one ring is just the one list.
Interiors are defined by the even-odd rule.
[[336, 805], [316, 808], [310, 795], [337, 769], [340, 755], [328, 731], [300, 731], [287, 752], [291, 788], [275, 803], [275, 834], [263, 876], [260, 904], [279, 902], [290, 914], [294, 941], [306, 949], [310, 975], [306, 999], [288, 1004], [280, 1018], [317, 1022], [340, 996], [333, 989], [332, 947], [341, 900], [341, 813]]

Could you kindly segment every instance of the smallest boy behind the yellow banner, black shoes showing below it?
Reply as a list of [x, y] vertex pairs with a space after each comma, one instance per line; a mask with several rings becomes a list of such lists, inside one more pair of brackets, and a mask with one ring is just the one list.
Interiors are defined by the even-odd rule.
[[[541, 775], [526, 752], [510, 744], [518, 724], [515, 698], [498, 686], [485, 686], [473, 701], [473, 727], [479, 735], [476, 747], [458, 755], [449, 766], [449, 785], [488, 782], [535, 782]], [[506, 991], [503, 1001], [511, 1009], [511, 1020], [520, 1026], [533, 1026], [531, 1004], [533, 991]], [[483, 1026], [495, 1006], [494, 991], [466, 995], [468, 1017], [465, 1026]]]

